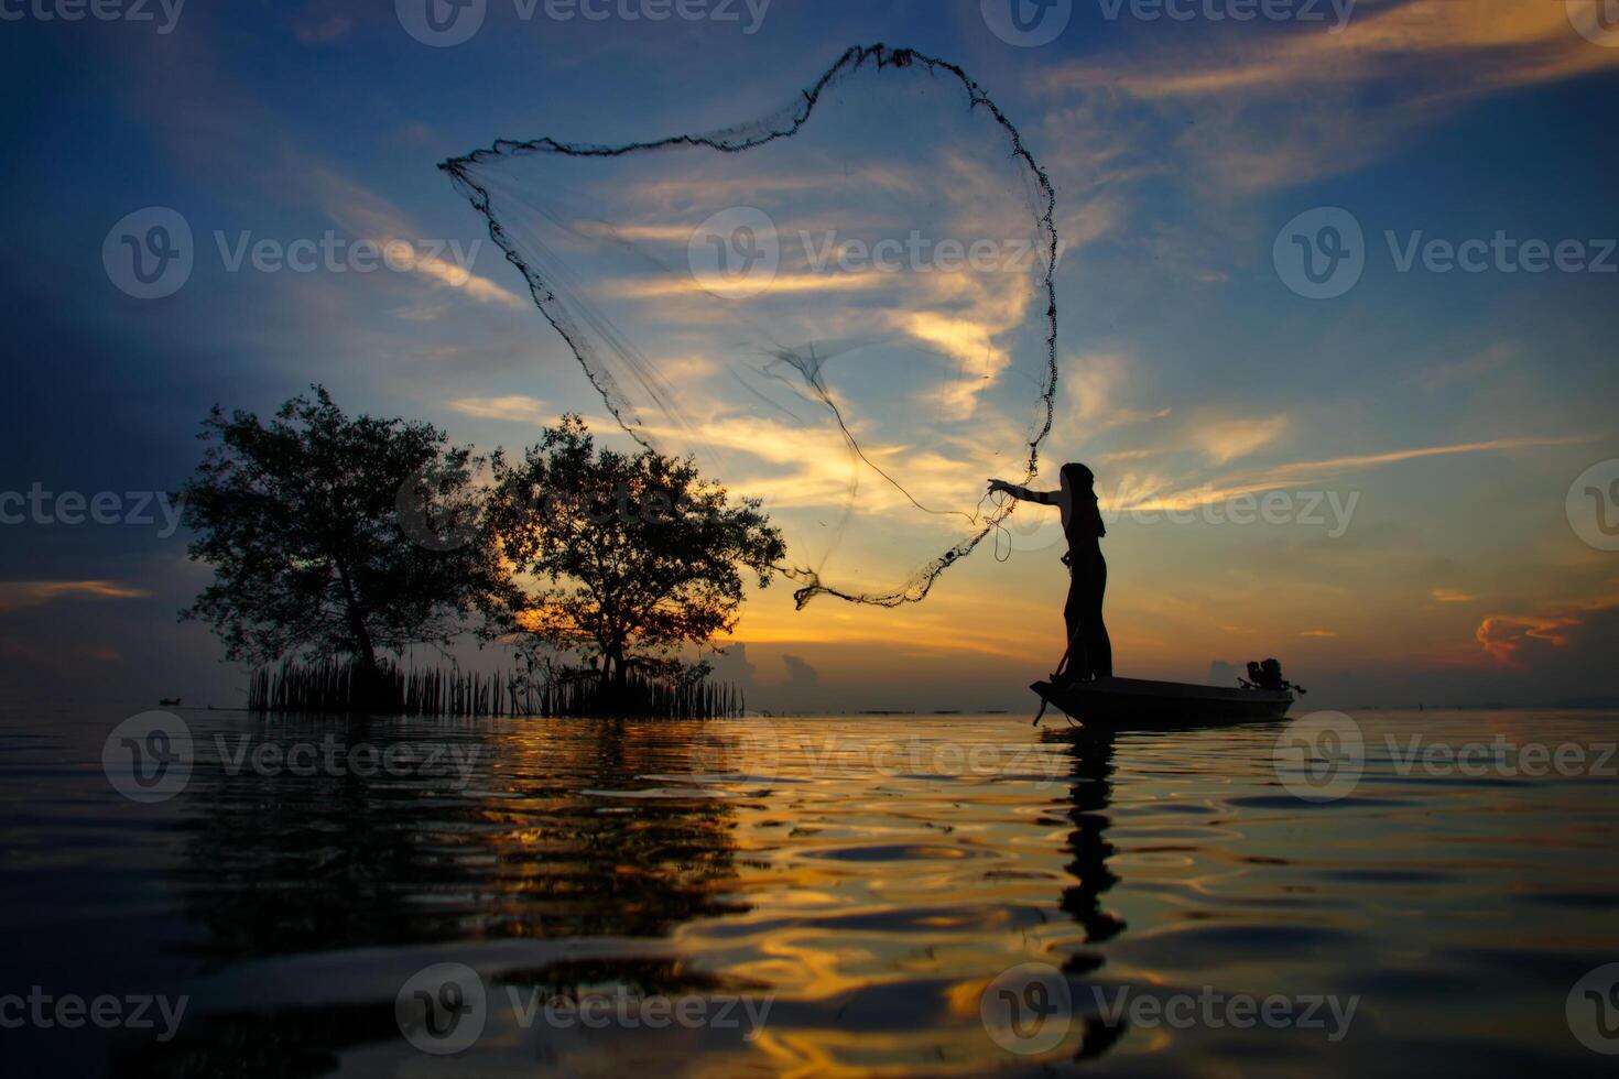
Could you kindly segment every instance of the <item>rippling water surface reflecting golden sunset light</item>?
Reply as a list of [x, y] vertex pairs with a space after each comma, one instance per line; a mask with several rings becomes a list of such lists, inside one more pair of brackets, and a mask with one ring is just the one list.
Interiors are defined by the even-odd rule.
[[[1026, 717], [181, 712], [196, 764], [151, 804], [121, 798], [102, 768], [126, 715], [11, 713], [0, 726], [0, 993], [185, 995], [186, 1009], [167, 1042], [3, 1029], [6, 1074], [1619, 1063], [1569, 1019], [1575, 984], [1619, 961], [1608, 715], [1357, 715], [1365, 773], [1313, 802], [1273, 767], [1285, 723], [1104, 738], [1049, 720], [1031, 731]], [[1413, 736], [1454, 747], [1498, 734], [1587, 747], [1564, 768], [1583, 775], [1443, 775], [1443, 757], [1399, 759]], [[327, 765], [329, 736], [440, 757], [356, 775], [369, 757]], [[306, 775], [282, 759], [296, 746], [312, 754], [293, 754]], [[444, 971], [460, 967], [439, 964], [466, 967], [448, 995]], [[1158, 1021], [1143, 998], [1179, 1019]], [[1271, 998], [1305, 1022], [1208, 1005], [1234, 998]], [[1598, 1016], [1608, 1001], [1593, 998], [1591, 1021], [1619, 1024], [1611, 1003]], [[599, 1008], [597, 1026], [570, 1005]], [[670, 1019], [680, 1006], [685, 1022]], [[476, 1040], [418, 1048], [448, 1029], [444, 1016]]]

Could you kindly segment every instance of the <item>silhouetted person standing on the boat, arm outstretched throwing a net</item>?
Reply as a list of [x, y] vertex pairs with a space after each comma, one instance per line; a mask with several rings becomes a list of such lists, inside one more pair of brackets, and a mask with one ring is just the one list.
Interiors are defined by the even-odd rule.
[[1059, 476], [1060, 490], [1030, 490], [999, 479], [989, 480], [989, 490], [1062, 510], [1062, 532], [1069, 539], [1069, 552], [1062, 556], [1062, 565], [1069, 568], [1069, 602], [1062, 605], [1062, 621], [1069, 631], [1069, 649], [1054, 678], [1062, 681], [1111, 678], [1112, 641], [1103, 623], [1107, 560], [1103, 558], [1101, 539], [1107, 535], [1107, 529], [1096, 508], [1096, 477], [1078, 463], [1064, 464]]

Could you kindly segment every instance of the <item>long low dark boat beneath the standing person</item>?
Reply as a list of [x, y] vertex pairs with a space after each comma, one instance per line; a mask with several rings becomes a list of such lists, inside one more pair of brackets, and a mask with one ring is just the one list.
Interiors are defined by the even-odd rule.
[[1030, 689], [1075, 720], [1099, 725], [1172, 726], [1279, 720], [1294, 704], [1294, 694], [1285, 689], [1226, 689], [1141, 678], [1098, 678], [1060, 686], [1041, 681]]

